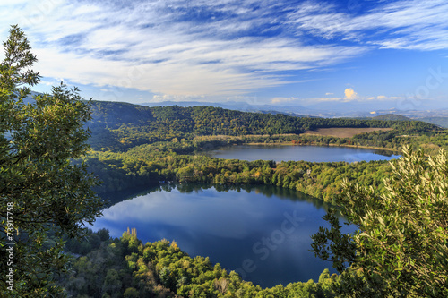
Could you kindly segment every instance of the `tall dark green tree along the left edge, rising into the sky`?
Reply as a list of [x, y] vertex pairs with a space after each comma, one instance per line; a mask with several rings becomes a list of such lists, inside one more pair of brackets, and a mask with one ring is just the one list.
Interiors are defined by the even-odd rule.
[[81, 237], [102, 209], [91, 190], [96, 179], [86, 166], [73, 164], [88, 149], [90, 133], [82, 125], [90, 119], [90, 104], [63, 84], [30, 99], [40, 78], [24, 32], [13, 25], [3, 46], [0, 290], [17, 297], [60, 294], [52, 281], [66, 266], [60, 236]]

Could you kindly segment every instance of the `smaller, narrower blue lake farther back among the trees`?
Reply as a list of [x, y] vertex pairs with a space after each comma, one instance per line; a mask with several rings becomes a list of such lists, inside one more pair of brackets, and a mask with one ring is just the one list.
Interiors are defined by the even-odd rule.
[[360, 149], [349, 147], [327, 146], [294, 146], [294, 145], [238, 145], [208, 151], [213, 158], [241, 159], [254, 161], [258, 159], [288, 161], [305, 160], [312, 162], [332, 161], [371, 161], [400, 158], [392, 151], [376, 149]]

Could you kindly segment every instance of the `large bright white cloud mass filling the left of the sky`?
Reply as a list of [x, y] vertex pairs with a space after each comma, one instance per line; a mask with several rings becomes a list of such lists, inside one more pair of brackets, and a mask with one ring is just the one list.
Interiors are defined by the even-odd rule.
[[[277, 4], [271, 0], [194, 4], [159, 0], [127, 7], [99, 1], [47, 2], [23, 2], [21, 10], [9, 6], [8, 13], [1, 13], [2, 22], [22, 20], [42, 75], [99, 87], [232, 97], [291, 82], [284, 72], [337, 64], [366, 51], [305, 46], [295, 38], [276, 35], [240, 36], [246, 30], [272, 30], [275, 20], [270, 13]], [[259, 5], [259, 11], [254, 13], [252, 4]], [[232, 14], [203, 23], [182, 20], [188, 9]]]

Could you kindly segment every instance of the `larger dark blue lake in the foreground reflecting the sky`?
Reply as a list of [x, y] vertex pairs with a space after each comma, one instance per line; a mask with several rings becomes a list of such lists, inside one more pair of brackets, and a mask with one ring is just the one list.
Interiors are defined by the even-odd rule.
[[129, 226], [143, 242], [176, 240], [191, 256], [209, 256], [262, 286], [317, 280], [331, 265], [308, 251], [329, 206], [302, 192], [182, 183], [120, 195], [122, 201], [108, 195], [115, 203], [95, 229], [107, 227], [120, 236]]

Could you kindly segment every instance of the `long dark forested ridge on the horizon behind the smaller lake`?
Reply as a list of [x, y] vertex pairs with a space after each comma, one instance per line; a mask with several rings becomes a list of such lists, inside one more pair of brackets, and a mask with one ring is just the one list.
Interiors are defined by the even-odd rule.
[[419, 121], [380, 121], [349, 118], [310, 118], [239, 112], [213, 106], [136, 106], [93, 101], [92, 149], [120, 151], [157, 141], [207, 135], [274, 135], [326, 127], [388, 127], [397, 133], [435, 132], [438, 127]]

